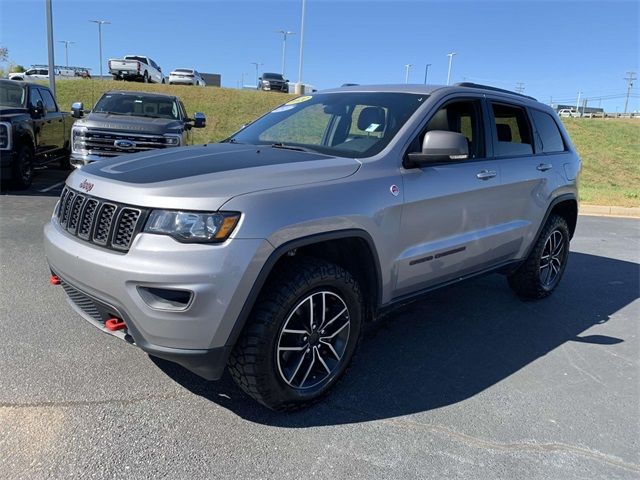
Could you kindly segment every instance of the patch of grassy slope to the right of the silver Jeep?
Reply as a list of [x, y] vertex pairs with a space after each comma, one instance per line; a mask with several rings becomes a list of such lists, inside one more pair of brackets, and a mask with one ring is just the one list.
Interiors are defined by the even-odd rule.
[[580, 200], [640, 206], [640, 120], [563, 118], [582, 158]]

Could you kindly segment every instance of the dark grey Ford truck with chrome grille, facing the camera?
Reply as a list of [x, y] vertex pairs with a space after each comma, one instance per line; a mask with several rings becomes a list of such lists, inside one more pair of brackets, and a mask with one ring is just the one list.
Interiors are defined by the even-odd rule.
[[106, 92], [90, 112], [82, 103], [74, 103], [72, 115], [78, 119], [71, 130], [74, 167], [126, 153], [189, 145], [191, 129], [206, 126], [204, 114], [189, 118], [178, 97], [149, 92]]

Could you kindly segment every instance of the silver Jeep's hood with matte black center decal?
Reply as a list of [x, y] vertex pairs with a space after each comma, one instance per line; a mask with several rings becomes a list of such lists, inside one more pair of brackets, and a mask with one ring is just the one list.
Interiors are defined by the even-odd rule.
[[141, 207], [215, 211], [238, 195], [337, 180], [360, 165], [353, 158], [217, 143], [95, 162], [73, 172], [67, 185]]

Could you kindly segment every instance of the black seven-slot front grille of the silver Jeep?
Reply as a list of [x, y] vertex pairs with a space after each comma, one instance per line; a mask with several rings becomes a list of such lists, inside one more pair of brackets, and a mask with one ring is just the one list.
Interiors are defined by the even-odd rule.
[[127, 252], [142, 229], [147, 210], [102, 200], [65, 187], [58, 205], [58, 222], [71, 235], [87, 242]]

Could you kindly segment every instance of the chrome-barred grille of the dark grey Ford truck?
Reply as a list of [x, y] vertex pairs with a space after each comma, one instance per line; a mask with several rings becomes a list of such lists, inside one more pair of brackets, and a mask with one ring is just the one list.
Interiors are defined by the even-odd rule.
[[174, 146], [167, 145], [167, 137], [163, 135], [142, 135], [92, 129], [74, 130], [73, 143], [75, 151], [103, 157]]

